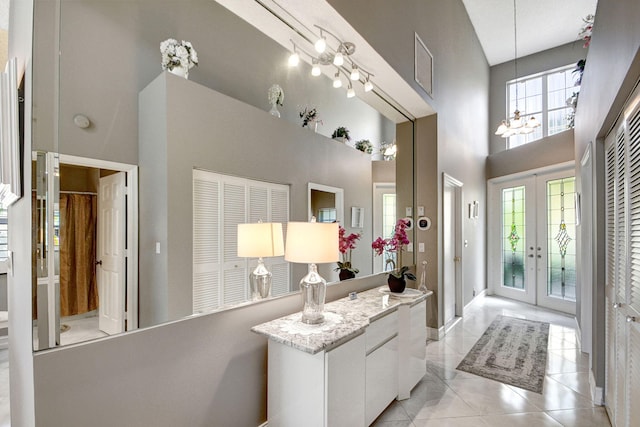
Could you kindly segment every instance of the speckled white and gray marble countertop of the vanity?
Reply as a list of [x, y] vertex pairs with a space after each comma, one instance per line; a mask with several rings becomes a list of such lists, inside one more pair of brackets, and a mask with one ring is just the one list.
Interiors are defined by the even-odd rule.
[[251, 330], [278, 343], [316, 354], [363, 334], [370, 322], [399, 306], [413, 306], [433, 294], [432, 291], [423, 294], [412, 289], [410, 294], [397, 296], [390, 294], [388, 289], [384, 285], [359, 292], [356, 299], [345, 297], [325, 304], [325, 321], [319, 325], [302, 323], [302, 313], [298, 312], [254, 326]]

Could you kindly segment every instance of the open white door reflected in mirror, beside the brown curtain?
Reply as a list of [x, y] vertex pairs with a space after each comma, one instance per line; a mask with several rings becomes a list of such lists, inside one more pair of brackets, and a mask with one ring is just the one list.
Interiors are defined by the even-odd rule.
[[126, 297], [125, 173], [100, 178], [98, 190], [96, 279], [98, 323], [112, 335], [124, 331]]

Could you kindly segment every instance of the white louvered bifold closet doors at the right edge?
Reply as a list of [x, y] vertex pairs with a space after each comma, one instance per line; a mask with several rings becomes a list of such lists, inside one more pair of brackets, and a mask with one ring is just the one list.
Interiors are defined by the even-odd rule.
[[639, 105], [625, 111], [605, 141], [605, 404], [617, 427], [640, 425]]

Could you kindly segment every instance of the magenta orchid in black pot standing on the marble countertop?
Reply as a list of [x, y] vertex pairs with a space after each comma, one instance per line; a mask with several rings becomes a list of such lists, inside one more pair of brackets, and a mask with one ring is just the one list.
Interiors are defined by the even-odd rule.
[[[387, 254], [388, 258], [385, 263], [391, 264], [392, 266], [392, 270], [389, 272], [389, 277], [387, 278], [387, 284], [389, 285], [389, 290], [393, 293], [404, 292], [404, 289], [407, 286], [405, 278], [409, 280], [416, 280], [416, 276], [409, 272], [409, 267], [402, 265], [402, 251], [404, 246], [410, 243], [406, 231], [408, 225], [409, 224], [405, 219], [400, 218], [398, 222], [396, 222], [392, 237], [388, 239], [378, 237], [371, 244], [376, 255], [382, 255], [384, 253]], [[394, 253], [397, 256], [395, 261], [393, 259]]]

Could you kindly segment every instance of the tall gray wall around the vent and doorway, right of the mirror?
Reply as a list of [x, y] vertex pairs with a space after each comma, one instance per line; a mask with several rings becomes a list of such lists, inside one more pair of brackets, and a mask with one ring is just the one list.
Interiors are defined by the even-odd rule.
[[[424, 259], [429, 262], [428, 271], [436, 274], [429, 285], [436, 293], [440, 288], [433, 281], [437, 277], [441, 283], [441, 254], [438, 251], [442, 247], [442, 237], [437, 236], [436, 247], [429, 242], [432, 241], [431, 234], [441, 233], [442, 173], [464, 183], [463, 206], [472, 200], [480, 202], [480, 218], [463, 221], [463, 239], [469, 242], [462, 253], [466, 304], [473, 298], [474, 290], [486, 286], [484, 162], [489, 144], [490, 76], [464, 5], [460, 0], [330, 0], [329, 3], [437, 111], [437, 126], [423, 133], [424, 139], [418, 137], [416, 140], [418, 154], [415, 159], [416, 206], [431, 209], [434, 220], [430, 231], [418, 233], [418, 242], [425, 242], [428, 249], [416, 254], [416, 263], [420, 265]], [[372, 12], [362, 13], [363, 10]], [[386, 28], [393, 30], [381, 31]], [[433, 99], [414, 81], [414, 33], [418, 33], [434, 57]], [[434, 147], [423, 149], [425, 144], [437, 144], [437, 150]], [[434, 165], [429, 156], [436, 152], [437, 164]], [[437, 179], [435, 185], [434, 179]]]

